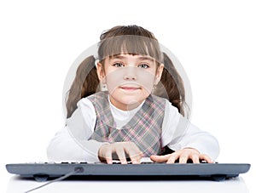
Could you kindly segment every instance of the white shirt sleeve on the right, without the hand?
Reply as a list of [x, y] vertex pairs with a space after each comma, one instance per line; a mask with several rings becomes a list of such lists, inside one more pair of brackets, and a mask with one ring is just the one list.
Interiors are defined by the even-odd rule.
[[166, 102], [166, 111], [162, 130], [162, 145], [172, 150], [195, 148], [201, 154], [215, 160], [219, 154], [218, 140], [212, 134], [197, 128], [178, 113], [177, 108]]

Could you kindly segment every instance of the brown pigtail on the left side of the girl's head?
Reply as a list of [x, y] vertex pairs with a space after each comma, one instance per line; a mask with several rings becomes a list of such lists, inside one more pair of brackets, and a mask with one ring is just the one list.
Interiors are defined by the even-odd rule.
[[76, 77], [68, 92], [66, 102], [67, 118], [72, 116], [73, 111], [77, 109], [79, 99], [95, 94], [99, 85], [99, 79], [96, 73], [96, 59], [94, 56], [86, 58], [78, 67]]

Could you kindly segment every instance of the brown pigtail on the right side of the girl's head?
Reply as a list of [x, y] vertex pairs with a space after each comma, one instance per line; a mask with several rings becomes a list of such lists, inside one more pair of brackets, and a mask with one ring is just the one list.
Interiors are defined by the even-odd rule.
[[186, 103], [183, 80], [178, 74], [175, 66], [172, 64], [172, 60], [168, 57], [168, 55], [166, 53], [163, 53], [163, 56], [165, 68], [162, 72], [160, 82], [165, 87], [167, 98], [169, 99], [169, 101], [172, 103], [173, 106], [177, 107], [179, 113], [184, 116], [184, 106]]

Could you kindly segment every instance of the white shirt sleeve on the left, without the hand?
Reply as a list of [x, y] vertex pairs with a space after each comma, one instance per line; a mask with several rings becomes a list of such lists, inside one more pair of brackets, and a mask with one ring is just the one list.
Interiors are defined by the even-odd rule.
[[89, 99], [81, 99], [67, 125], [51, 139], [47, 155], [54, 162], [99, 162], [98, 150], [105, 144], [90, 139], [96, 124], [96, 112]]

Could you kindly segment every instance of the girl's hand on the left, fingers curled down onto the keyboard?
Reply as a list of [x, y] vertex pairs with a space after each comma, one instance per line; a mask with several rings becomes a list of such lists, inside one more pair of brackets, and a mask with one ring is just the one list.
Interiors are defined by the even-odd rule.
[[116, 153], [121, 164], [126, 164], [125, 153], [129, 156], [132, 163], [140, 163], [143, 157], [143, 152], [133, 142], [115, 142], [113, 144], [104, 144], [98, 151], [98, 156], [101, 162], [111, 164], [113, 162], [112, 154]]

